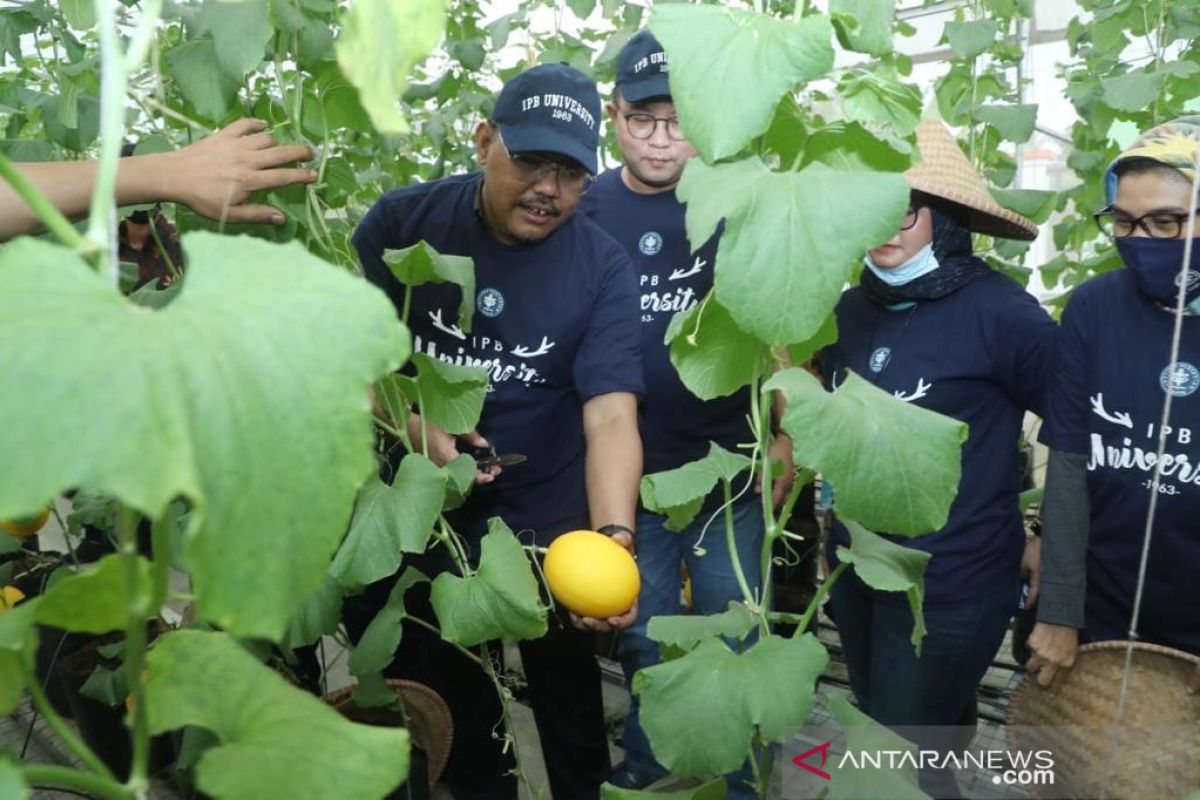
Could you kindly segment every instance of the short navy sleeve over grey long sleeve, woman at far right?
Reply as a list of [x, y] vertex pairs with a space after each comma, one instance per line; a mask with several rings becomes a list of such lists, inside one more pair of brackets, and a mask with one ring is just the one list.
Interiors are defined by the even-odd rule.
[[1068, 453], [1088, 452], [1088, 302], [1079, 290], [1067, 302], [1054, 342], [1042, 444]]

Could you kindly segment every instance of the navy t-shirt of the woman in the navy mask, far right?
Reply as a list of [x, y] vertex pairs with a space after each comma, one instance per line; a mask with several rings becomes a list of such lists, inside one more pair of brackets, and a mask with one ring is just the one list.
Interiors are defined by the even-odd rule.
[[1158, 425], [1174, 392], [1139, 616], [1144, 640], [1200, 654], [1200, 318], [1175, 318], [1126, 270], [1070, 296], [1055, 347], [1042, 441], [1088, 456], [1087, 639], [1124, 639], [1133, 616]]

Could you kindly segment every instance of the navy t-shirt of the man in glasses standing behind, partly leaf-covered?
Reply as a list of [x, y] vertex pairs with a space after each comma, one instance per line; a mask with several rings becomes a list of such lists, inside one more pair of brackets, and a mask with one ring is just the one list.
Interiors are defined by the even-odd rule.
[[713, 288], [716, 241], [695, 252], [688, 241], [685, 207], [674, 191], [638, 194], [611, 169], [583, 196], [580, 211], [608, 231], [634, 259], [641, 289], [642, 362], [646, 399], [642, 444], [646, 474], [674, 469], [708, 455], [708, 443], [726, 450], [751, 440], [745, 421], [750, 390], [702, 401], [671, 363], [662, 342], [671, 318], [695, 308]]

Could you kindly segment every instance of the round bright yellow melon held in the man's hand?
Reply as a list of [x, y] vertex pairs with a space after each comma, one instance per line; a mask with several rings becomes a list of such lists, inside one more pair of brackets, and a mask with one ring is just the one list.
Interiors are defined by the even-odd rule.
[[554, 599], [581, 616], [624, 614], [641, 588], [629, 551], [594, 530], [572, 530], [556, 539], [542, 569]]

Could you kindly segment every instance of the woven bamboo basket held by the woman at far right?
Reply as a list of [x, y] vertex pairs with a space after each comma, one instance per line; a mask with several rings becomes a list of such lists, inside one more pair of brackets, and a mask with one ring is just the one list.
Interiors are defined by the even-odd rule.
[[1079, 649], [1075, 666], [1042, 688], [1026, 675], [1008, 705], [1010, 750], [1049, 750], [1052, 786], [1034, 798], [1184, 798], [1200, 775], [1200, 694], [1188, 682], [1196, 656], [1134, 643], [1121, 726], [1114, 726], [1126, 642]]

